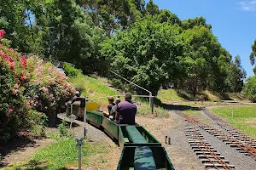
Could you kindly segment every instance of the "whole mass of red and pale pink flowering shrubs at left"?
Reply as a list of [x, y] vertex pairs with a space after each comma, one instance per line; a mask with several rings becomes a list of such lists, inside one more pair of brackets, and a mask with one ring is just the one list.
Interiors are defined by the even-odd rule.
[[38, 111], [55, 122], [61, 105], [75, 93], [66, 75], [53, 65], [37, 56], [26, 59], [6, 46], [4, 33], [0, 30], [0, 143], [40, 122]]

